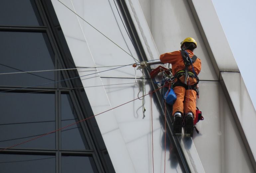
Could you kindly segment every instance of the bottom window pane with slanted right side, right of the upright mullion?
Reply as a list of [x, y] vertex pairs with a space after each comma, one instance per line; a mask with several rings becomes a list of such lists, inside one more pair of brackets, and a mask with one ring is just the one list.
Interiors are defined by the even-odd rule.
[[62, 173], [86, 172], [97, 173], [97, 168], [92, 157], [62, 156]]

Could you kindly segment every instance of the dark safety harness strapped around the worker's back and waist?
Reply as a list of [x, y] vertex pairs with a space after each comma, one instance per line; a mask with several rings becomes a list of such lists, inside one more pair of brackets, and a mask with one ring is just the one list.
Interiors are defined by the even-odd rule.
[[[196, 95], [199, 96], [199, 89], [197, 87], [197, 84], [199, 83], [199, 78], [197, 77], [197, 75], [196, 75], [196, 73], [194, 71], [194, 67], [193, 67], [193, 63], [196, 61], [197, 56], [193, 55], [192, 58], [190, 58], [188, 52], [185, 51], [185, 50], [181, 50], [181, 55], [182, 55], [182, 58], [183, 58], [183, 61], [184, 61], [184, 64], [185, 64], [185, 69], [178, 71], [174, 75], [173, 80], [175, 78], [177, 78], [178, 81], [173, 84], [173, 87], [175, 87], [175, 86], [182, 86], [186, 90], [192, 89], [192, 90], [194, 90], [196, 92]], [[189, 71], [189, 66], [190, 65], [192, 65], [193, 72]], [[185, 83], [183, 83], [180, 80], [180, 77], [183, 76], [183, 75], [185, 76]], [[187, 85], [187, 78], [188, 78], [188, 76], [192, 77], [192, 78], [195, 78], [196, 79], [196, 83], [193, 84], [193, 85]]]

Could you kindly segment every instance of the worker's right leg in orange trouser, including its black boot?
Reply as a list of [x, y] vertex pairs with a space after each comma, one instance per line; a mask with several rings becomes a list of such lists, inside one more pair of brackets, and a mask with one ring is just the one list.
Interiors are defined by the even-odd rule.
[[184, 98], [184, 113], [185, 117], [185, 136], [193, 136], [194, 120], [195, 120], [195, 107], [196, 107], [196, 92], [194, 90], [186, 90]]

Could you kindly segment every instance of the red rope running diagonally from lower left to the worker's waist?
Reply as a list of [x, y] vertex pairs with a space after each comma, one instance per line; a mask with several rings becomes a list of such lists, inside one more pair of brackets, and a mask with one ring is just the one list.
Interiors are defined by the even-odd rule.
[[[130, 103], [130, 102], [133, 102], [133, 101], [135, 101], [135, 100], [137, 100], [137, 99], [140, 99], [140, 98], [142, 98], [142, 97], [145, 97], [145, 96], [147, 96], [147, 95], [149, 95], [149, 94], [152, 94], [152, 93], [154, 93], [154, 92], [160, 90], [160, 89], [163, 88], [163, 87], [165, 87], [165, 85], [162, 86], [162, 87], [160, 87], [160, 88], [158, 88], [158, 89], [156, 89], [156, 90], [154, 90], [154, 91], [152, 91], [152, 92], [150, 92], [150, 93], [148, 93], [148, 94], [145, 94], [144, 96], [138, 97], [138, 98], [136, 98], [136, 99], [134, 99], [134, 100], [131, 100], [131, 101], [129, 101], [129, 102], [126, 102], [126, 103], [123, 103], [123, 104], [121, 104], [121, 105], [118, 105], [118, 106], [116, 106], [116, 107], [114, 107], [114, 108], [111, 108], [111, 109], [109, 109], [109, 110], [106, 110], [106, 111], [104, 111], [104, 112], [101, 112], [101, 113], [99, 113], [99, 114], [97, 114], [97, 115], [103, 114], [103, 113], [105, 113], [105, 112], [108, 112], [108, 111], [111, 111], [111, 110], [113, 110], [113, 109], [116, 109], [116, 108], [118, 108], [118, 107], [120, 107], [120, 106], [123, 106], [123, 105], [125, 105], [125, 104], [127, 104], [127, 103]], [[31, 138], [31, 139], [26, 140], [26, 141], [23, 141], [23, 142], [21, 142], [21, 143], [12, 145], [12, 146], [7, 147], [7, 148], [4, 148], [4, 149], [1, 149], [0, 152], [1, 152], [1, 151], [4, 151], [4, 150], [7, 150], [7, 149], [10, 149], [10, 148], [13, 148], [13, 147], [15, 147], [15, 146], [18, 146], [18, 145], [21, 145], [21, 144], [30, 142], [30, 141], [32, 141], [32, 140], [38, 139], [38, 138], [43, 137], [43, 136], [46, 136], [46, 135], [48, 135], [48, 134], [55, 133], [56, 131], [60, 131], [60, 130], [62, 130], [62, 129], [68, 128], [68, 127], [73, 126], [73, 125], [75, 125], [75, 124], [78, 124], [78, 123], [81, 123], [81, 122], [83, 122], [83, 121], [89, 120], [89, 119], [91, 119], [91, 118], [93, 118], [93, 117], [96, 117], [97, 115], [93, 115], [93, 116], [91, 116], [91, 117], [85, 118], [85, 119], [80, 120], [80, 121], [78, 121], [78, 122], [69, 124], [69, 125], [67, 125], [67, 126], [65, 126], [65, 127], [62, 127], [62, 128], [60, 128], [60, 129], [50, 131], [50, 132], [48, 132], [48, 133], [45, 133], [45, 134], [42, 134], [42, 135], [40, 135], [40, 136]]]

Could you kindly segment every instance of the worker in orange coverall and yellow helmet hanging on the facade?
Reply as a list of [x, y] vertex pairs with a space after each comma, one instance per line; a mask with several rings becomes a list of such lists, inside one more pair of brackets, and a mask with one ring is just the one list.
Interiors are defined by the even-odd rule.
[[196, 95], [199, 96], [197, 75], [201, 70], [201, 60], [193, 50], [197, 47], [193, 38], [186, 38], [181, 42], [181, 50], [160, 55], [162, 63], [172, 64], [174, 74], [173, 89], [177, 100], [173, 105], [174, 133], [181, 135], [183, 119], [185, 120], [185, 136], [193, 136]]

